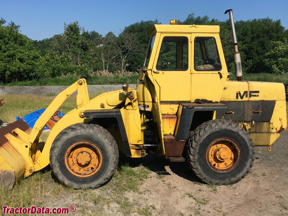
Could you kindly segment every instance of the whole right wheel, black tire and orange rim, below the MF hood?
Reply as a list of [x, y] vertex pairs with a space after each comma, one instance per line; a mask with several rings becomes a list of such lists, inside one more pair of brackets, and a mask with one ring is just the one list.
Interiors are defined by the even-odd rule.
[[227, 120], [211, 120], [195, 129], [187, 146], [187, 161], [203, 182], [228, 185], [249, 173], [254, 144], [243, 128]]

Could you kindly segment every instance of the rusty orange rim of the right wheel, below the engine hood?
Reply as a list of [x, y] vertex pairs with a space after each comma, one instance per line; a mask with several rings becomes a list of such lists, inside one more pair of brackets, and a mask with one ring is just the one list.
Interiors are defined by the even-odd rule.
[[240, 148], [238, 144], [226, 137], [213, 140], [206, 150], [208, 166], [218, 172], [226, 173], [238, 165], [240, 161]]

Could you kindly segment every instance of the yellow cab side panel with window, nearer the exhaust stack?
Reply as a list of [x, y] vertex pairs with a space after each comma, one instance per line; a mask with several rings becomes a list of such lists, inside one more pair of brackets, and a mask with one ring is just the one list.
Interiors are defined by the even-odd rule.
[[226, 86], [227, 68], [219, 34], [192, 35], [191, 101], [220, 101]]

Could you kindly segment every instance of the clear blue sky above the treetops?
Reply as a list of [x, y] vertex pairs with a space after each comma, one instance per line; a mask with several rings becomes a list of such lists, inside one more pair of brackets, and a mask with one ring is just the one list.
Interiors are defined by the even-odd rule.
[[269, 17], [280, 19], [288, 29], [288, 1], [253, 0], [104, 0], [104, 1], [19, 1], [0, 0], [0, 16], [8, 22], [21, 25], [21, 33], [32, 40], [43, 40], [63, 33], [64, 22], [78, 21], [85, 30], [101, 35], [120, 30], [141, 20], [158, 19], [169, 24], [170, 19], [184, 21], [190, 13], [195, 16], [207, 15], [220, 21], [229, 19], [225, 10], [233, 9], [234, 20], [248, 20]]

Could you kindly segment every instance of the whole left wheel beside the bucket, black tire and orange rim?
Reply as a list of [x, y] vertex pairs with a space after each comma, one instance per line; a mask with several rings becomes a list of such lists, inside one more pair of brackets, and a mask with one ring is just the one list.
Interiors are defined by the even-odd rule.
[[67, 187], [96, 188], [112, 178], [119, 151], [106, 129], [77, 123], [57, 135], [49, 159], [53, 173]]

